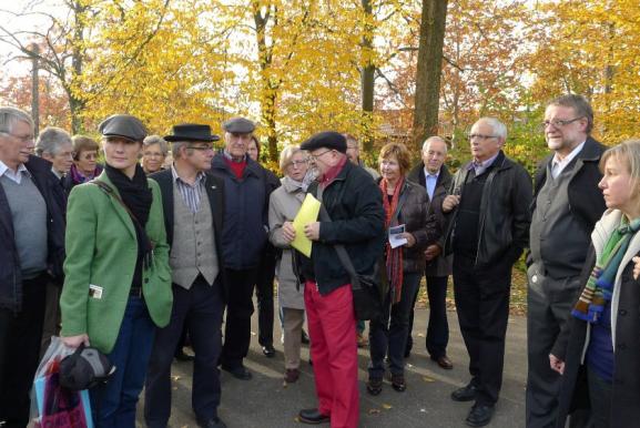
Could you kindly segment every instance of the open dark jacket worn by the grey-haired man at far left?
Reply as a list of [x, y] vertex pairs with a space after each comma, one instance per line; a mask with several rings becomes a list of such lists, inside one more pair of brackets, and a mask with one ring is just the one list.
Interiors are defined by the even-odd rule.
[[[51, 172], [51, 162], [29, 156], [24, 164], [47, 204], [48, 271], [57, 281], [62, 278], [64, 262], [64, 200], [59, 198], [60, 181]], [[58, 195], [58, 196], [57, 196]], [[0, 307], [20, 312], [22, 306], [22, 275], [13, 218], [4, 190], [0, 186]]]

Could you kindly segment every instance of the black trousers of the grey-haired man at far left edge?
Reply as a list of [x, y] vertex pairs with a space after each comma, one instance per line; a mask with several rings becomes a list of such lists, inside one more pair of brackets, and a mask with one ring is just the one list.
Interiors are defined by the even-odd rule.
[[47, 283], [42, 274], [22, 282], [22, 310], [0, 309], [0, 421], [24, 428], [29, 421], [33, 376], [40, 363]]

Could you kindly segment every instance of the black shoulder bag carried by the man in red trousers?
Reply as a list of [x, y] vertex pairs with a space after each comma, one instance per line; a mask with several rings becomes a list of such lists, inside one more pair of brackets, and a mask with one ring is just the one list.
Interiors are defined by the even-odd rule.
[[[321, 202], [321, 220], [323, 222], [331, 222], [332, 218], [322, 203], [322, 190], [318, 188], [318, 200]], [[337, 256], [349, 274], [352, 281], [352, 293], [354, 302], [354, 313], [357, 320], [377, 319], [383, 315], [383, 300], [388, 291], [388, 282], [386, 278], [386, 265], [384, 261], [376, 261], [373, 275], [358, 274], [352, 263], [352, 258], [346, 248], [342, 244], [335, 244], [334, 248]], [[380, 268], [382, 267], [382, 268]]]

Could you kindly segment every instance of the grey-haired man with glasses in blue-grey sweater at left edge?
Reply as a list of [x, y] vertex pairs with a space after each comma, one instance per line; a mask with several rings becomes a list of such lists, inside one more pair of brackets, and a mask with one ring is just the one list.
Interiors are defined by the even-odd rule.
[[[33, 121], [0, 108], [0, 425], [26, 427], [40, 360], [47, 284], [62, 276], [64, 213]], [[2, 425], [2, 422], [4, 425]]]

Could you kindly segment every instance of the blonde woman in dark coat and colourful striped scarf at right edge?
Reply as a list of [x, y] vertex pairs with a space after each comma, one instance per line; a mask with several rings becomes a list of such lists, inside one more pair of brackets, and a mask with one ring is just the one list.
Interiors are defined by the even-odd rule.
[[608, 210], [591, 234], [569, 330], [549, 355], [563, 375], [558, 427], [579, 407], [596, 428], [640, 424], [640, 141], [605, 152], [600, 169]]

